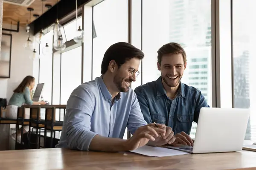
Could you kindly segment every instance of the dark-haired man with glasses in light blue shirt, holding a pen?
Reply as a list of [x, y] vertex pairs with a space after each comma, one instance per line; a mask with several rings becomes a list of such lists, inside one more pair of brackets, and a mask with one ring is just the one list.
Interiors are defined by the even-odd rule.
[[[55, 147], [118, 152], [175, 141], [172, 128], [145, 122], [130, 88], [143, 57], [140, 49], [126, 42], [108, 48], [102, 76], [79, 85], [70, 95], [60, 142]], [[123, 140], [126, 127], [133, 136]]]

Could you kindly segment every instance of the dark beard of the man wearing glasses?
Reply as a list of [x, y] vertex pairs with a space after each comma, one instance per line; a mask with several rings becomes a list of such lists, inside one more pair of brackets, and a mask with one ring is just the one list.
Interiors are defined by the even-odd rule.
[[114, 76], [113, 79], [114, 84], [116, 85], [116, 88], [120, 91], [120, 92], [128, 92], [129, 91], [129, 87], [131, 85], [132, 79], [131, 78], [122, 78], [118, 75]]

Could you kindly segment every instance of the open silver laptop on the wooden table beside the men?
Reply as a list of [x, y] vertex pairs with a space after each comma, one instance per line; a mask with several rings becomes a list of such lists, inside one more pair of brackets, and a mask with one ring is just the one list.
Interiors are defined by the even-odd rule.
[[201, 108], [194, 146], [168, 147], [189, 153], [241, 151], [249, 114], [249, 109]]

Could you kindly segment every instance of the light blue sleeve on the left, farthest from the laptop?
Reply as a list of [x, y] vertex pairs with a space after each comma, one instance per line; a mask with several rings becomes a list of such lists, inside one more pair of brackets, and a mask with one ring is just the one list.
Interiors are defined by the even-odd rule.
[[90, 142], [97, 134], [90, 131], [94, 108], [93, 93], [85, 88], [77, 88], [67, 102], [66, 136], [70, 149], [88, 151]]

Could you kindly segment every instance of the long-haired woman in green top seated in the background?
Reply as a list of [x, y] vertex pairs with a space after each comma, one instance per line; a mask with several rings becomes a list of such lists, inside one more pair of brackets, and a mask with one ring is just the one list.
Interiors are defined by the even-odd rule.
[[[46, 102], [34, 102], [32, 101], [31, 92], [35, 86], [35, 78], [32, 76], [27, 76], [23, 81], [18, 85], [18, 87], [13, 91], [11, 99], [6, 106], [6, 117], [10, 119], [17, 119], [18, 107], [21, 107], [23, 104], [26, 105], [45, 105]], [[29, 114], [25, 113], [25, 119], [29, 119]], [[29, 131], [29, 126], [23, 126], [23, 133]], [[16, 133], [11, 135], [12, 139], [16, 140]], [[21, 129], [17, 131], [17, 142], [20, 143], [21, 139]]]

